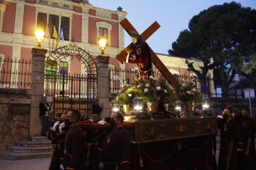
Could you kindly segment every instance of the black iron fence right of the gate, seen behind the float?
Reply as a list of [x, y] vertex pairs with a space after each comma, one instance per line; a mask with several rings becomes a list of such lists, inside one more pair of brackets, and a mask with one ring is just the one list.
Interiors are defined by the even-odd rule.
[[[160, 71], [154, 71], [158, 75], [161, 76]], [[116, 68], [109, 69], [109, 83], [110, 83], [110, 92], [111, 93], [117, 93], [119, 89], [121, 89], [121, 80], [127, 81], [127, 83], [133, 83], [134, 77], [138, 76], [138, 71], [134, 70], [121, 70]], [[173, 75], [176, 79], [189, 79], [191, 78], [188, 75]], [[193, 76], [194, 83], [197, 89], [202, 88], [202, 81], [197, 76]], [[207, 82], [205, 85], [207, 86], [207, 95], [208, 97], [223, 97], [227, 96], [229, 98], [242, 98], [242, 86], [237, 89], [235, 86], [239, 84], [240, 81], [233, 81], [229, 85], [229, 91], [228, 94], [223, 94], [221, 87], [215, 86], [213, 77], [207, 77]]]

